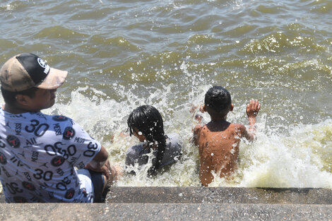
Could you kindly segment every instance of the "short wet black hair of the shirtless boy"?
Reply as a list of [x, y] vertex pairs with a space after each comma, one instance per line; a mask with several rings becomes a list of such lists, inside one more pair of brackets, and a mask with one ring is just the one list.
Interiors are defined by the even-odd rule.
[[214, 112], [213, 114], [225, 116], [232, 106], [230, 92], [221, 86], [213, 86], [206, 92], [204, 104], [208, 111]]

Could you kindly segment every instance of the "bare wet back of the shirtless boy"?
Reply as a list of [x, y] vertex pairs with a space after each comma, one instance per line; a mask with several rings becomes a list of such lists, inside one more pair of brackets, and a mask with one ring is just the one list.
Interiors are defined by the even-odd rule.
[[201, 184], [208, 186], [213, 181], [211, 171], [227, 177], [237, 169], [239, 141], [244, 130], [243, 125], [227, 121], [211, 121], [204, 126], [196, 126], [194, 134], [201, 161]]

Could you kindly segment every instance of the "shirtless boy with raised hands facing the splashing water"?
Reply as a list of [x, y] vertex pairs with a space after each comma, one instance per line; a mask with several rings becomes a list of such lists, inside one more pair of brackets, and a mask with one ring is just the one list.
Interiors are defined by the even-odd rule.
[[[237, 169], [237, 155], [239, 154], [240, 138], [253, 141], [255, 138], [256, 116], [261, 104], [250, 100], [247, 105], [249, 131], [242, 124], [232, 124], [226, 120], [228, 112], [232, 112], [234, 105], [230, 92], [220, 86], [213, 86], [206, 92], [201, 112], [208, 112], [211, 121], [194, 128], [194, 143], [198, 145], [201, 162], [199, 177], [203, 186], [213, 181], [213, 174], [220, 173], [220, 177], [228, 177]], [[201, 117], [196, 116], [198, 122]]]

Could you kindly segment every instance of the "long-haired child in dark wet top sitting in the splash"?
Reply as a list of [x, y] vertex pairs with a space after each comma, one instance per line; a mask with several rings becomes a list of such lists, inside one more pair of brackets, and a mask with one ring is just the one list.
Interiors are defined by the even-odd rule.
[[148, 163], [148, 153], [155, 155], [152, 166], [148, 169], [148, 177], [157, 169], [176, 162], [182, 155], [181, 145], [177, 135], [165, 135], [162, 117], [155, 107], [143, 105], [134, 109], [128, 117], [127, 124], [130, 136], [134, 134], [139, 141], [126, 151], [126, 165], [138, 163], [139, 166]]

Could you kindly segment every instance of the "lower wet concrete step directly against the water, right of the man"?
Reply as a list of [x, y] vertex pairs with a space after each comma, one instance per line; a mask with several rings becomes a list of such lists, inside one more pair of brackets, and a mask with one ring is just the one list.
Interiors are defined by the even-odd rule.
[[107, 203], [332, 204], [331, 189], [114, 186]]

